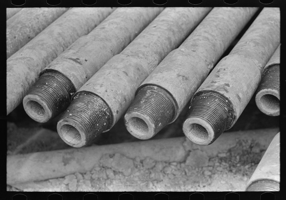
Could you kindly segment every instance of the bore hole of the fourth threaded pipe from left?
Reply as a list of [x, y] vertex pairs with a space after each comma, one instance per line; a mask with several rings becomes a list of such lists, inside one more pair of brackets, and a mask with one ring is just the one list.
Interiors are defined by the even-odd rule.
[[200, 124], [190, 124], [187, 131], [194, 142], [204, 142], [208, 139], [208, 131]]

